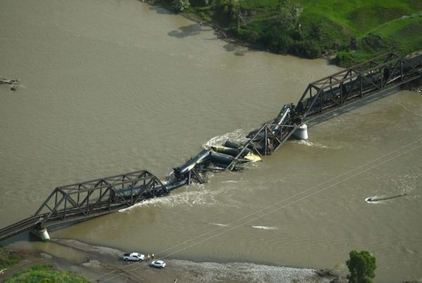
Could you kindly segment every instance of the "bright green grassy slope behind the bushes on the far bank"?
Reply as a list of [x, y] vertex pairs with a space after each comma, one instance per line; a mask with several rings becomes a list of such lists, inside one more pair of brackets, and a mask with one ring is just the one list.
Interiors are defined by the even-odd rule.
[[[305, 25], [319, 22], [324, 33], [331, 37], [324, 41], [334, 39], [340, 44], [337, 63], [343, 67], [389, 51], [406, 55], [422, 49], [422, 1], [299, 2], [304, 7], [301, 20]], [[356, 51], [350, 50], [347, 44], [351, 37], [357, 39], [359, 47]], [[378, 45], [368, 44], [375, 37], [379, 39]]]

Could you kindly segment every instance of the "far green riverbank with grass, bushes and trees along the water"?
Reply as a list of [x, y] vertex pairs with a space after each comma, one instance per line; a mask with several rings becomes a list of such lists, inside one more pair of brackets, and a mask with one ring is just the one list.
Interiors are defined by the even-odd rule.
[[149, 0], [214, 25], [221, 37], [342, 67], [388, 51], [422, 49], [417, 0]]

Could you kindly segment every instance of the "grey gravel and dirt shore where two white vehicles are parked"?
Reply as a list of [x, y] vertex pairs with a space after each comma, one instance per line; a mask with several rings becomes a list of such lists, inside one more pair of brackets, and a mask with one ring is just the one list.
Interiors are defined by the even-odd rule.
[[[123, 251], [94, 246], [73, 239], [52, 239], [53, 244], [68, 249], [59, 256], [43, 251], [25, 251], [23, 261], [0, 275], [0, 281], [35, 264], [52, 264], [70, 270], [90, 282], [333, 282], [334, 276], [320, 276], [317, 270], [289, 268], [255, 263], [212, 263], [167, 259], [163, 269], [151, 268], [151, 261], [124, 262]], [[79, 261], [66, 258], [77, 251]], [[340, 282], [340, 281], [336, 281]]]

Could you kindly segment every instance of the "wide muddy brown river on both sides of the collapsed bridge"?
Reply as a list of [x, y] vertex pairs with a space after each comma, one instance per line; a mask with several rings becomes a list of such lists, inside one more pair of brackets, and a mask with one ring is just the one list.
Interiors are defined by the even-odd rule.
[[[339, 70], [227, 44], [135, 0], [4, 0], [0, 22], [0, 77], [22, 82], [0, 86], [1, 227], [59, 185], [142, 169], [162, 178]], [[422, 96], [400, 91], [312, 126], [307, 142], [290, 140], [242, 173], [50, 235], [192, 261], [343, 270], [349, 251], [364, 249], [377, 282], [421, 279], [421, 117]]]

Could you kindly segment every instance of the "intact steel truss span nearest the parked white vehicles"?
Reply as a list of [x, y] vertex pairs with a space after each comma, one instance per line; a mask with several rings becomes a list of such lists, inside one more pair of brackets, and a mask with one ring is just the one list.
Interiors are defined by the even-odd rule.
[[150, 172], [135, 171], [56, 187], [34, 216], [41, 216], [40, 226], [46, 227], [100, 216], [167, 192], [165, 185]]

